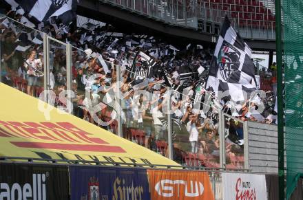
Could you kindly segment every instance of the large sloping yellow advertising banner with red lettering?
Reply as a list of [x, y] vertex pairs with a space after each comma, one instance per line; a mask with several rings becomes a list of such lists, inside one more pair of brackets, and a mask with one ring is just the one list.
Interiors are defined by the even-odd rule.
[[178, 165], [0, 83], [0, 157]]

